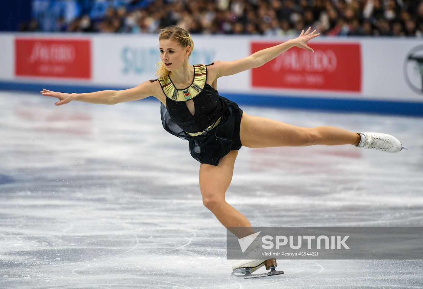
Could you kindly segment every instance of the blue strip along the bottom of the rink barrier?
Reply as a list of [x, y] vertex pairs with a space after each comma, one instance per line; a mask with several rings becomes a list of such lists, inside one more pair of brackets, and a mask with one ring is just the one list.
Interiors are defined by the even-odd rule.
[[[123, 90], [128, 87], [106, 87], [106, 86], [80, 86], [60, 85], [57, 83], [22, 83], [22, 82], [0, 82], [0, 90], [14, 90], [39, 93], [43, 88], [64, 93], [88, 93], [99, 90]], [[325, 98], [289, 95], [258, 95], [244, 93], [220, 93], [220, 95], [235, 101], [240, 106], [263, 106], [281, 109], [310, 109], [321, 111], [376, 113], [388, 115], [407, 115], [423, 117], [423, 103], [400, 102], [400, 101], [378, 101], [378, 100], [357, 100], [347, 98]], [[40, 94], [40, 96], [42, 96]], [[157, 101], [150, 97], [142, 101]], [[242, 108], [242, 107], [241, 107]]]

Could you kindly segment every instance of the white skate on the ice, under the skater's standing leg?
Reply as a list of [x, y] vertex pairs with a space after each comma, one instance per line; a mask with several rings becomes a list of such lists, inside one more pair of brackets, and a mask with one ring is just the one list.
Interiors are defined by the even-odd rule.
[[[263, 245], [258, 240], [251, 243], [250, 252], [247, 256], [252, 256], [260, 247]], [[261, 273], [261, 274], [251, 274], [256, 271], [258, 268], [266, 266], [266, 270], [270, 269], [270, 272]], [[276, 259], [248, 259], [248, 260], [239, 260], [232, 264], [232, 274], [231, 276], [243, 277], [243, 278], [257, 278], [257, 277], [266, 277], [272, 275], [283, 274], [283, 271], [275, 270], [277, 264]], [[242, 275], [240, 275], [242, 274]]]

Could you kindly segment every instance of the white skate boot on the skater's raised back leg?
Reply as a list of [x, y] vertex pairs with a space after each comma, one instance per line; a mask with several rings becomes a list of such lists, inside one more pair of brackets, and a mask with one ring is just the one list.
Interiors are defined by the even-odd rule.
[[360, 134], [361, 141], [356, 147], [382, 150], [387, 153], [398, 153], [402, 149], [408, 150], [401, 145], [401, 142], [396, 137], [390, 134], [368, 133], [364, 131], [359, 131], [357, 134]]

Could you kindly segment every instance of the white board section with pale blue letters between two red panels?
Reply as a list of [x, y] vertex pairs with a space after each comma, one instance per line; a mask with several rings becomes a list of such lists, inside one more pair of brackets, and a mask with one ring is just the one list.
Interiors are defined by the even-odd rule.
[[[236, 48], [236, 49], [234, 49]], [[214, 60], [234, 60], [248, 55], [248, 40], [194, 37], [190, 63], [209, 64]], [[160, 61], [157, 35], [98, 35], [93, 37], [93, 83], [99, 85], [136, 86], [156, 79], [156, 63]], [[235, 78], [235, 79], [234, 79]], [[234, 78], [219, 79], [219, 88], [245, 90], [249, 72]]]

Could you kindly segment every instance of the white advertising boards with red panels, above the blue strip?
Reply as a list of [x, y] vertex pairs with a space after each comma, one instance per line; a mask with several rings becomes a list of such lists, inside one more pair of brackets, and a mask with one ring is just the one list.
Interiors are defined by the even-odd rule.
[[[84, 56], [82, 60], [74, 60], [83, 65], [80, 70], [85, 71], [84, 74], [80, 76], [69, 65], [61, 66], [69, 70], [69, 77], [63, 69], [63, 75], [42, 74], [39, 67], [55, 67], [42, 63], [51, 57], [39, 58], [41, 63], [28, 64], [38, 66], [25, 71], [22, 59], [26, 57], [30, 61], [28, 55], [32, 53], [26, 49], [27, 44], [38, 47], [35, 42], [43, 39], [49, 41], [51, 49], [58, 47], [60, 39], [66, 43], [72, 39], [79, 41], [72, 49], [79, 53], [77, 57]], [[236, 60], [286, 41], [282, 38], [226, 35], [193, 35], [193, 40], [195, 47], [190, 57], [191, 64]], [[129, 88], [155, 79], [155, 65], [160, 60], [158, 37], [150, 34], [0, 33], [0, 44], [0, 82], [3, 83]], [[295, 50], [297, 48], [290, 49], [261, 68], [220, 78], [218, 89], [221, 93], [247, 95], [423, 102], [421, 40], [319, 37], [309, 43], [310, 47], [313, 48], [313, 44], [316, 48], [313, 55]], [[57, 61], [58, 58], [55, 59]], [[86, 61], [90, 63], [84, 64]], [[38, 71], [38, 74], [32, 75], [31, 71]], [[75, 79], [78, 77], [81, 80]]]

